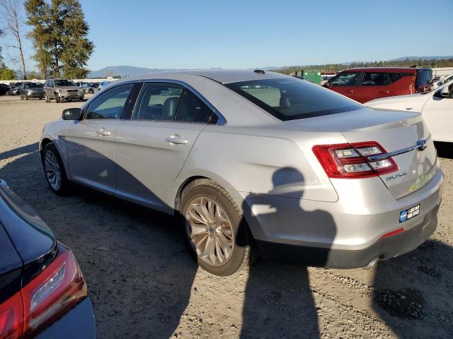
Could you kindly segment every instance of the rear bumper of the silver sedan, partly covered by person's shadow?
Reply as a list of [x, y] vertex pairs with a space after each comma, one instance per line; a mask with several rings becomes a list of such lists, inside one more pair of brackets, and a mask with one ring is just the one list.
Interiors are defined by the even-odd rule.
[[[443, 182], [436, 166], [428, 184], [400, 199], [394, 199], [380, 179], [350, 180], [342, 188], [348, 195], [338, 194], [336, 203], [244, 194], [244, 217], [267, 258], [311, 266], [368, 266], [415, 249], [435, 231]], [[402, 210], [418, 205], [419, 215], [399, 222]], [[404, 232], [382, 238], [401, 227]]]

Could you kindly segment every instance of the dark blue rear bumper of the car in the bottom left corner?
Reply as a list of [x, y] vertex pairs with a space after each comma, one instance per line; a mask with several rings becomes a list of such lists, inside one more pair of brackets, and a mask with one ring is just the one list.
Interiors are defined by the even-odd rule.
[[96, 324], [90, 299], [84, 299], [35, 338], [95, 339]]

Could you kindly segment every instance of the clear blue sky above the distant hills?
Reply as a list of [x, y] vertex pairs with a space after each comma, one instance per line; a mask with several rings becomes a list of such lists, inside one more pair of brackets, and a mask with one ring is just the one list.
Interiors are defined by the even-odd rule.
[[[96, 45], [88, 61], [92, 70], [241, 69], [453, 55], [452, 0], [81, 3]], [[0, 40], [3, 46], [6, 40]], [[30, 43], [25, 52], [33, 54]], [[4, 54], [7, 59], [13, 51]]]

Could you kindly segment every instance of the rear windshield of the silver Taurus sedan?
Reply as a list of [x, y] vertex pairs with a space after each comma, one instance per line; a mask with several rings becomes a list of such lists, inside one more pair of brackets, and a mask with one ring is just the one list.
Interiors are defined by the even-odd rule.
[[297, 78], [241, 81], [225, 86], [283, 121], [362, 108], [332, 90]]

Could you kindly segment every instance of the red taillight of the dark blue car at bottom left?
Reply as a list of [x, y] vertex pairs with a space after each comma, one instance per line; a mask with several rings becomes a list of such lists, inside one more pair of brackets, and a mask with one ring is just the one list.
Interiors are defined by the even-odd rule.
[[[22, 333], [25, 336], [35, 333], [69, 311], [86, 295], [86, 283], [74, 254], [59, 245], [54, 261], [1, 304], [0, 338], [19, 338]], [[10, 314], [15, 316], [11, 318]], [[6, 323], [4, 329], [3, 323]], [[9, 334], [11, 328], [14, 328], [13, 335]]]

